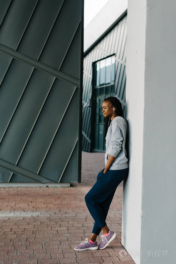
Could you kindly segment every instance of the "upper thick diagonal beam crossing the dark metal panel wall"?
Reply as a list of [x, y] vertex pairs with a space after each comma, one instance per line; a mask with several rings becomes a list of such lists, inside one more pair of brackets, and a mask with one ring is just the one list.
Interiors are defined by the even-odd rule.
[[79, 87], [79, 79], [70, 76], [69, 74], [63, 73], [63, 72], [59, 72], [58, 70], [50, 67], [49, 65], [42, 63], [42, 62], [38, 62], [35, 59], [30, 58], [27, 55], [24, 55], [22, 53], [19, 53], [18, 51], [15, 51], [11, 48], [8, 48], [7, 46], [3, 45], [0, 43], [0, 51], [4, 54], [7, 54], [17, 60], [20, 60], [24, 63], [27, 63], [39, 70], [42, 70], [43, 72], [46, 72], [54, 77], [57, 77], [59, 79], [61, 79], [62, 81], [68, 82], [72, 85], [75, 85], [77, 87]]

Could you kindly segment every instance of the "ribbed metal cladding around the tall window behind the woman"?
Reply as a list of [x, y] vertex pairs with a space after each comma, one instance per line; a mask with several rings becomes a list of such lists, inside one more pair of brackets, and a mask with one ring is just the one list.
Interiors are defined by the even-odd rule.
[[127, 15], [84, 57], [82, 95], [82, 150], [91, 149], [92, 62], [115, 53], [115, 93], [125, 116]]

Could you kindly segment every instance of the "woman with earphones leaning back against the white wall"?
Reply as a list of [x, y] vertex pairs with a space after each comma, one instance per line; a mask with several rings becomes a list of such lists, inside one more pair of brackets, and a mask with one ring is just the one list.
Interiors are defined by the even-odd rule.
[[[113, 96], [102, 103], [102, 114], [105, 121], [105, 168], [97, 175], [97, 181], [85, 196], [90, 214], [95, 220], [90, 239], [86, 238], [75, 250], [103, 249], [116, 237], [116, 233], [106, 225], [106, 216], [121, 181], [128, 176], [129, 165], [125, 149], [128, 127], [123, 116], [120, 101]], [[111, 120], [111, 121], [110, 121]], [[109, 124], [110, 123], [110, 124]], [[102, 229], [102, 241], [97, 245], [96, 237]]]

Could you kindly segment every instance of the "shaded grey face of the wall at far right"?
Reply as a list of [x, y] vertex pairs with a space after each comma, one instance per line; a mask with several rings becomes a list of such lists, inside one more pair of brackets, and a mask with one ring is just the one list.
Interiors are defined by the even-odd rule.
[[175, 262], [175, 11], [175, 0], [147, 1], [141, 243], [168, 250], [160, 264]]

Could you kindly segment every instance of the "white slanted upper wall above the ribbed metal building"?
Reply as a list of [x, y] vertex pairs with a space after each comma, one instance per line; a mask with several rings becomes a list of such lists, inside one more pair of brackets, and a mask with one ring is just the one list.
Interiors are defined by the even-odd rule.
[[[86, 51], [127, 9], [128, 0], [109, 0], [84, 28]], [[93, 8], [93, 7], [92, 7]]]

